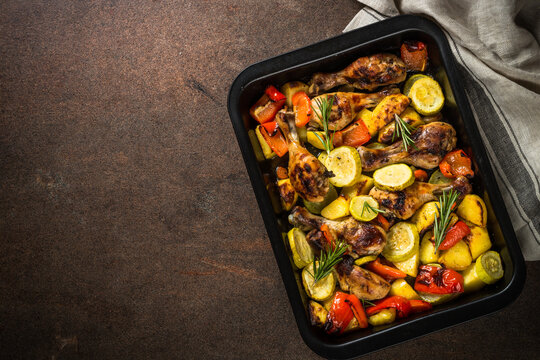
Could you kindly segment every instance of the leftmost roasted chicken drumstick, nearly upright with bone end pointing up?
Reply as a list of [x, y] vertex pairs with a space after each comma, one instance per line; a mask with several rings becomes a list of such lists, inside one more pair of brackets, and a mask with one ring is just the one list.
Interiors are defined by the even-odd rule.
[[307, 201], [323, 201], [330, 189], [328, 172], [313, 154], [300, 145], [294, 113], [281, 110], [276, 115], [276, 121], [289, 147], [289, 179], [292, 186]]

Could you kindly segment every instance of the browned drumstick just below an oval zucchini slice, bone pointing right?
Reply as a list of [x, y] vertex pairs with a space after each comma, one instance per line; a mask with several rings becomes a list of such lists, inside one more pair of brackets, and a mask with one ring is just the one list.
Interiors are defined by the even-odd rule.
[[402, 191], [385, 191], [372, 188], [369, 192], [383, 210], [391, 212], [399, 219], [405, 220], [414, 215], [416, 210], [428, 202], [437, 200], [443, 191], [454, 189], [461, 195], [460, 198], [469, 194], [472, 190], [471, 184], [466, 177], [460, 176], [451, 184], [428, 184], [415, 181], [411, 186]]

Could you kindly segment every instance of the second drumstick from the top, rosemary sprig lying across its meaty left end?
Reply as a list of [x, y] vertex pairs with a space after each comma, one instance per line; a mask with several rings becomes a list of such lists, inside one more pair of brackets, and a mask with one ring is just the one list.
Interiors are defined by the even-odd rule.
[[364, 108], [372, 108], [388, 95], [399, 94], [396, 87], [387, 88], [373, 94], [361, 94], [350, 92], [335, 92], [317, 96], [312, 99], [311, 104], [315, 114], [312, 116], [312, 123], [322, 127], [321, 111], [319, 101], [323, 97], [330, 99], [333, 97], [332, 112], [328, 119], [328, 128], [330, 130], [341, 130], [349, 125], [356, 115]]

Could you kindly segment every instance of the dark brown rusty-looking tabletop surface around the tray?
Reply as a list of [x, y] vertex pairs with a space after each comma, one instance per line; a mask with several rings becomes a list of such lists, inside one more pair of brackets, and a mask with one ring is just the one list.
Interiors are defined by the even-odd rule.
[[[225, 104], [244, 67], [337, 35], [358, 10], [2, 1], [1, 357], [317, 358]], [[528, 270], [505, 310], [366, 359], [535, 358], [540, 263]]]

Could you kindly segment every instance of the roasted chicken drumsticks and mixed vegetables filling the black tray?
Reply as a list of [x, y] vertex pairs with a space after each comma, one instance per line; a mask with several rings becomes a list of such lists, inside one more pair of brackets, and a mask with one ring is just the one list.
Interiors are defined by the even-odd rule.
[[427, 46], [400, 50], [269, 85], [250, 109], [311, 322], [329, 334], [429, 312], [503, 276]]

